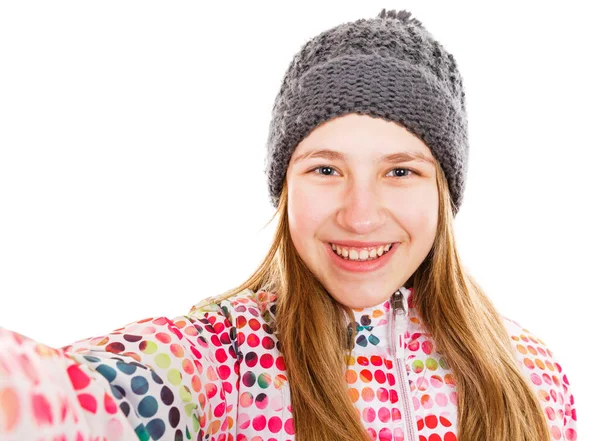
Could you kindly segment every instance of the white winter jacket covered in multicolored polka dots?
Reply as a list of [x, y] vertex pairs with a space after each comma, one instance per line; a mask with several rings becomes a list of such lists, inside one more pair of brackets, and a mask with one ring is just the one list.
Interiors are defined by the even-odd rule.
[[[373, 440], [454, 441], [454, 376], [411, 289], [355, 309], [348, 394]], [[293, 440], [276, 295], [204, 299], [54, 349], [0, 328], [1, 440]], [[577, 439], [569, 381], [538, 337], [503, 317], [553, 440]]]

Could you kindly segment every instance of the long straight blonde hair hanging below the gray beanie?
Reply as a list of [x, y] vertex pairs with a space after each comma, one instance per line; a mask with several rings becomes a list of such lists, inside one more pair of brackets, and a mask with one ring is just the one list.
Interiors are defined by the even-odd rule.
[[[502, 318], [460, 261], [452, 201], [437, 162], [436, 170], [435, 241], [405, 286], [412, 286], [413, 305], [453, 371], [458, 439], [549, 441], [541, 405], [520, 372]], [[286, 182], [273, 218], [277, 215], [273, 244], [260, 266], [241, 285], [212, 299], [244, 289], [277, 293], [273, 329], [287, 367], [298, 441], [370, 441], [344, 376], [352, 349], [346, 319], [352, 311], [327, 293], [298, 255], [289, 231]]]

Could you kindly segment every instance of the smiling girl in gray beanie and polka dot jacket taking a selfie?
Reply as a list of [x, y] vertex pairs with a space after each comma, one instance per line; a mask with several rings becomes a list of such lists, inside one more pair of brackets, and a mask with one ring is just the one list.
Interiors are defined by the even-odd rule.
[[421, 22], [317, 35], [273, 107], [258, 269], [60, 349], [0, 329], [0, 439], [576, 440], [552, 351], [461, 264], [467, 160], [462, 78]]

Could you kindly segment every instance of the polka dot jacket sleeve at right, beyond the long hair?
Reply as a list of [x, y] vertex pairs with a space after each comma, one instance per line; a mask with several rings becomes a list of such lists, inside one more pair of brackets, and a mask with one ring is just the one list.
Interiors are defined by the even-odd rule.
[[517, 361], [540, 400], [553, 440], [577, 439], [573, 388], [556, 355], [528, 329], [505, 318]]

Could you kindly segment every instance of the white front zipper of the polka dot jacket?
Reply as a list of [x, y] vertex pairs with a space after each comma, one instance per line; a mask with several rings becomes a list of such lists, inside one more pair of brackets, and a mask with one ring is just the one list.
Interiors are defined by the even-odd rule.
[[393, 314], [392, 314], [392, 341], [394, 360], [396, 362], [396, 368], [398, 373], [398, 383], [400, 384], [400, 395], [402, 400], [403, 408], [403, 419], [405, 421], [406, 428], [406, 441], [417, 441], [417, 424], [413, 412], [412, 402], [409, 401], [409, 384], [408, 374], [406, 372], [406, 362], [404, 360], [404, 332], [408, 326], [407, 323], [407, 311], [408, 311], [408, 298], [404, 295], [401, 290], [396, 291], [393, 294]]

